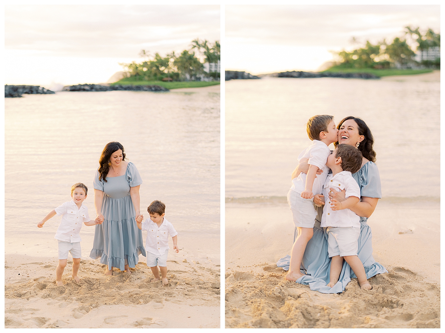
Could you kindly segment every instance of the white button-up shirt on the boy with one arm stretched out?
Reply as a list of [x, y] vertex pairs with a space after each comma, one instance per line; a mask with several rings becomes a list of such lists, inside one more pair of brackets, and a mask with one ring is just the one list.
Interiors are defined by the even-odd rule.
[[82, 224], [91, 221], [88, 215], [88, 208], [83, 203], [80, 208], [77, 208], [74, 200], [71, 200], [62, 203], [54, 210], [57, 216], [63, 215], [54, 238], [70, 243], [80, 242], [81, 236], [79, 232], [81, 231]]

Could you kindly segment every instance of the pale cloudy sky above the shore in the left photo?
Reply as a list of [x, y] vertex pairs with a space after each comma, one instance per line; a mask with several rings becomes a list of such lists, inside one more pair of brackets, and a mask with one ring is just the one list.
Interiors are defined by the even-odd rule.
[[5, 84], [103, 83], [141, 61], [189, 49], [195, 38], [220, 40], [219, 5], [5, 6]]

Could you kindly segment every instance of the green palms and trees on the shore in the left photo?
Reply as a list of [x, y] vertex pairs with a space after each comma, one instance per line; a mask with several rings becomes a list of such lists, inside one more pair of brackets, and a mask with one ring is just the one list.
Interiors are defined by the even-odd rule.
[[[219, 41], [211, 44], [207, 40], [195, 39], [190, 49], [181, 53], [167, 53], [162, 57], [159, 53], [154, 56], [146, 50], [139, 54], [144, 60], [133, 61], [129, 64], [119, 64], [124, 67], [128, 77], [144, 81], [211, 81], [220, 80], [220, 73], [211, 64], [218, 64], [221, 59]], [[205, 64], [208, 63], [208, 71]]]

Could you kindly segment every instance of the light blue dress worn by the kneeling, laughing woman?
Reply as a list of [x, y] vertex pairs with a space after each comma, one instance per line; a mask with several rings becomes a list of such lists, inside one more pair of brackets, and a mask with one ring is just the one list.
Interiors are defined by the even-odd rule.
[[[360, 187], [360, 195], [369, 198], [381, 198], [381, 184], [380, 175], [377, 166], [373, 162], [366, 163], [359, 171], [352, 174]], [[309, 284], [311, 290], [317, 290], [323, 293], [338, 293], [343, 292], [346, 285], [355, 278], [356, 275], [352, 272], [351, 267], [343, 262], [343, 268], [340, 273], [340, 278], [334, 287], [327, 286], [329, 283], [329, 271], [331, 269], [331, 259], [328, 257], [328, 234], [326, 228], [320, 227], [321, 215], [323, 207], [316, 207], [318, 215], [314, 226], [314, 236], [309, 240], [306, 250], [301, 261], [301, 269], [307, 275], [296, 280], [297, 283]], [[388, 271], [381, 264], [377, 263], [372, 257], [372, 233], [371, 228], [366, 223], [367, 217], [360, 217], [360, 236], [358, 239], [357, 255], [363, 263], [366, 277]], [[297, 236], [297, 228], [294, 231], [294, 241]], [[284, 270], [289, 270], [291, 256], [287, 255], [277, 262], [278, 267]]]

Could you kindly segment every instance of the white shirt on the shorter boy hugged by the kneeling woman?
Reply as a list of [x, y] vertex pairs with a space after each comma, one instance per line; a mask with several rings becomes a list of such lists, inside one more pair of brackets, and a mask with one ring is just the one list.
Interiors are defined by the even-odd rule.
[[350, 209], [333, 211], [329, 200], [329, 188], [336, 191], [346, 189], [346, 199], [355, 196], [360, 199], [360, 187], [349, 171], [341, 171], [335, 176], [329, 175], [323, 186], [324, 208], [321, 227], [360, 227], [360, 216]]

